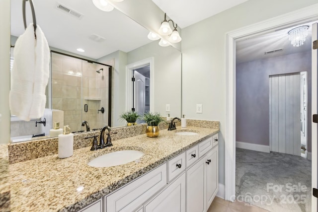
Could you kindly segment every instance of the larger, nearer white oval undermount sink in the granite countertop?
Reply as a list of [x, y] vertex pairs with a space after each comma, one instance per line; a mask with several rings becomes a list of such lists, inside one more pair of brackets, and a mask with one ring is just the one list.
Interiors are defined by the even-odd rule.
[[144, 152], [138, 150], [113, 151], [96, 157], [88, 162], [93, 167], [118, 166], [139, 159]]

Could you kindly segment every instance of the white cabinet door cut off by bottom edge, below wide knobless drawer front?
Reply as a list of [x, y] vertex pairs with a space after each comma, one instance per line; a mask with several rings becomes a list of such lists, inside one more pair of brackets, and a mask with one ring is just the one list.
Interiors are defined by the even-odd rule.
[[184, 212], [185, 173], [145, 206], [145, 212]]

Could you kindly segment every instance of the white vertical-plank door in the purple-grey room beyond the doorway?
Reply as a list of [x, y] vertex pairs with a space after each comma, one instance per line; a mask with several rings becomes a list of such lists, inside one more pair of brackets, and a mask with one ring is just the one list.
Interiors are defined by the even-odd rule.
[[269, 76], [270, 151], [301, 155], [300, 73]]

